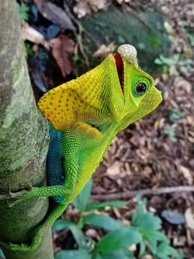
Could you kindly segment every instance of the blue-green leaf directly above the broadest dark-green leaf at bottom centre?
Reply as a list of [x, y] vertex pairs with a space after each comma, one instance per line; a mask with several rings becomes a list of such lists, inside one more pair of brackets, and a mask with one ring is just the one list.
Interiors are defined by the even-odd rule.
[[85, 224], [91, 224], [107, 230], [116, 230], [124, 226], [122, 221], [115, 220], [114, 218], [105, 215], [89, 214], [83, 216], [83, 218]]

